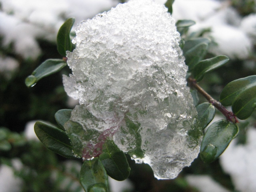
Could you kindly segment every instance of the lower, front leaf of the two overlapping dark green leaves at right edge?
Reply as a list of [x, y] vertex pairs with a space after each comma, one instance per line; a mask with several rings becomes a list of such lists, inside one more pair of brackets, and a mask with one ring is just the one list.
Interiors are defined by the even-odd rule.
[[246, 87], [242, 93], [238, 94], [232, 103], [233, 113], [240, 119], [251, 116], [256, 108], [256, 84]]

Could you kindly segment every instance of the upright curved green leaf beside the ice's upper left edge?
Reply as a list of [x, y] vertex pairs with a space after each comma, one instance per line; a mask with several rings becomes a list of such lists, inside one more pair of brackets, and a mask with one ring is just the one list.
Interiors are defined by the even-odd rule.
[[60, 30], [57, 35], [57, 49], [63, 57], [66, 56], [66, 51], [72, 51], [70, 31], [72, 29], [72, 26], [74, 25], [74, 22], [75, 18], [67, 19], [60, 27]]

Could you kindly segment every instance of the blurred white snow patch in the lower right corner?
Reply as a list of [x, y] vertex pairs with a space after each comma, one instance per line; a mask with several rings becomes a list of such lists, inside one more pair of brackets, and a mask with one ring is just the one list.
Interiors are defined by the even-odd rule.
[[251, 127], [246, 133], [246, 144], [236, 144], [234, 139], [220, 156], [223, 170], [230, 174], [238, 191], [256, 191], [256, 129]]

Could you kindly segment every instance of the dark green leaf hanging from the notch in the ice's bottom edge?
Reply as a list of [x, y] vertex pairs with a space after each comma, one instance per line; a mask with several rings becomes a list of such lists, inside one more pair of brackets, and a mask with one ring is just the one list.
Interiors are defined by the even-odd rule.
[[99, 155], [107, 174], [114, 180], [123, 181], [128, 178], [131, 168], [123, 151], [114, 144], [112, 140], [105, 143], [105, 153]]

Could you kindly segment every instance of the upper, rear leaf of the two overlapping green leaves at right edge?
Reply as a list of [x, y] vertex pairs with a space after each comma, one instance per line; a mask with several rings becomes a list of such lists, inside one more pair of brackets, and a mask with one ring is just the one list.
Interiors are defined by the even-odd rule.
[[224, 87], [219, 96], [219, 101], [224, 106], [230, 106], [238, 94], [254, 86], [256, 86], [256, 75], [234, 80]]

